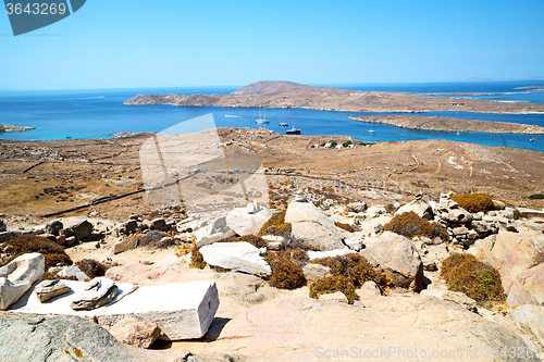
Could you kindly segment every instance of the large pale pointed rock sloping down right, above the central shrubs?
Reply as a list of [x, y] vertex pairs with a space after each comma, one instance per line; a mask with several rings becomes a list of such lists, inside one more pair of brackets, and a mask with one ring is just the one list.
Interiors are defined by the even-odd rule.
[[321, 250], [345, 249], [342, 240], [353, 237], [311, 202], [290, 202], [285, 222], [292, 224], [294, 237]]

